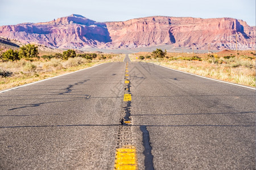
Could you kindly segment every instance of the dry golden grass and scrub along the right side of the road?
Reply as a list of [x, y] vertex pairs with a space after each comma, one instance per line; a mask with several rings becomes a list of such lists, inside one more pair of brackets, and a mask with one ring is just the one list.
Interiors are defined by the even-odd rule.
[[[172, 69], [186, 71], [209, 78], [255, 87], [255, 51], [224, 51], [210, 54], [167, 53], [167, 58], [139, 60], [139, 56], [151, 53], [130, 55], [132, 61], [158, 63]], [[199, 58], [195, 58], [197, 56]]]

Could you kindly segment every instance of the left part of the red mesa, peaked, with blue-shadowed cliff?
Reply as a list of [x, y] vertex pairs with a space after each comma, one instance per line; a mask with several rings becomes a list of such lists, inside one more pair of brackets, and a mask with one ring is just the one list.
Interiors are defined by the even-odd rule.
[[96, 47], [111, 41], [105, 23], [97, 23], [81, 15], [71, 15], [46, 23], [1, 26], [0, 36], [63, 49]]

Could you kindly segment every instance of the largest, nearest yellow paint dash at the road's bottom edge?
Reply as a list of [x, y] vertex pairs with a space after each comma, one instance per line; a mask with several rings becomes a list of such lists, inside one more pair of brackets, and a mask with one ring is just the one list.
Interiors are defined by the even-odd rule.
[[123, 146], [115, 151], [114, 169], [137, 169], [136, 148], [134, 146]]

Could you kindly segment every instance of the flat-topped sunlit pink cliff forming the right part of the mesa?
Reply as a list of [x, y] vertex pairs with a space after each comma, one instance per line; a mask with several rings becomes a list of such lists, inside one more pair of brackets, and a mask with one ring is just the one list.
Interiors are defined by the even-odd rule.
[[170, 44], [199, 49], [255, 48], [255, 27], [232, 18], [148, 17], [106, 23], [115, 48]]

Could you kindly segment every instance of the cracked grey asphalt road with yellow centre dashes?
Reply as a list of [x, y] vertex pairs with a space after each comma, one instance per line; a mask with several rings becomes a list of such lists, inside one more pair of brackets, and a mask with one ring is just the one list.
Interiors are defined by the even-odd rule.
[[126, 56], [0, 101], [0, 169], [255, 169], [249, 88]]

